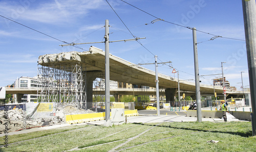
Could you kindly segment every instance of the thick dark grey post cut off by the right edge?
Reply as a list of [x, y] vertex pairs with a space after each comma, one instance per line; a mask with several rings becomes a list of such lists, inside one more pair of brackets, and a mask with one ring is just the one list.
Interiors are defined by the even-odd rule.
[[256, 5], [255, 0], [242, 0], [244, 14], [244, 31], [249, 69], [251, 92], [251, 124], [252, 136], [256, 136]]

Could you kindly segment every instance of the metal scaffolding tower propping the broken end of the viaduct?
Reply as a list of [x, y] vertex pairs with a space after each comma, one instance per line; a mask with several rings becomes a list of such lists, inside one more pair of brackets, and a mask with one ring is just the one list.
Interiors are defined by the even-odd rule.
[[86, 72], [82, 65], [38, 65], [37, 102], [69, 103], [86, 109]]

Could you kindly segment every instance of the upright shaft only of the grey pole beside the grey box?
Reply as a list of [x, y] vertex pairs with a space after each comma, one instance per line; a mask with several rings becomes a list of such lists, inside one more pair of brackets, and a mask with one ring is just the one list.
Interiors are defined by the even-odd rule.
[[105, 126], [111, 125], [110, 120], [110, 43], [109, 20], [105, 20]]

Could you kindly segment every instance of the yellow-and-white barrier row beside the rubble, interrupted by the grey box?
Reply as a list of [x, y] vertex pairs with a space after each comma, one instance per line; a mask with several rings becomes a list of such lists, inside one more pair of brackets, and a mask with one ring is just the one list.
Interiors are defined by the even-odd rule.
[[[111, 115], [111, 113], [110, 113]], [[124, 111], [125, 116], [137, 116], [138, 111], [136, 110], [127, 110]], [[105, 113], [87, 113], [87, 114], [76, 114], [76, 115], [65, 115], [65, 122], [69, 124], [74, 123], [82, 123], [82, 122], [90, 122], [90, 121], [96, 121], [96, 120], [104, 120], [105, 119]]]

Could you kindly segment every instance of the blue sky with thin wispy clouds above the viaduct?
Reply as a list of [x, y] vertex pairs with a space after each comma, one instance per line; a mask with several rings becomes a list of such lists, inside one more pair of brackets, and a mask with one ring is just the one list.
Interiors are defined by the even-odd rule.
[[[108, 0], [125, 26], [140, 40], [110, 43], [110, 53], [132, 63], [172, 61], [182, 80], [195, 79], [192, 30], [177, 26], [195, 27], [199, 31], [227, 38], [245, 40], [241, 1], [210, 0], [124, 0], [143, 10], [138, 10], [120, 0]], [[145, 13], [146, 12], [146, 13]], [[35, 32], [15, 22], [0, 17], [0, 86], [12, 84], [17, 77], [37, 75], [40, 55], [89, 50], [91, 45], [104, 50], [104, 43], [61, 47], [66, 42], [99, 42], [104, 37], [104, 22], [109, 19], [110, 41], [132, 39], [133, 36], [109, 4], [94, 1], [0, 1], [0, 15], [27, 27], [50, 35]], [[156, 18], [164, 21], [156, 21]], [[171, 22], [171, 23], [170, 23]], [[175, 23], [175, 24], [172, 24]], [[199, 74], [221, 73], [231, 86], [241, 90], [241, 71], [244, 87], [249, 87], [245, 41], [227, 38], [210, 40], [213, 35], [197, 31]], [[208, 41], [210, 40], [210, 41]], [[155, 70], [154, 65], [143, 67]], [[170, 75], [173, 68], [159, 65], [159, 73]], [[221, 75], [205, 76], [203, 84], [212, 85], [212, 79]], [[177, 78], [177, 74], [175, 74]]]

